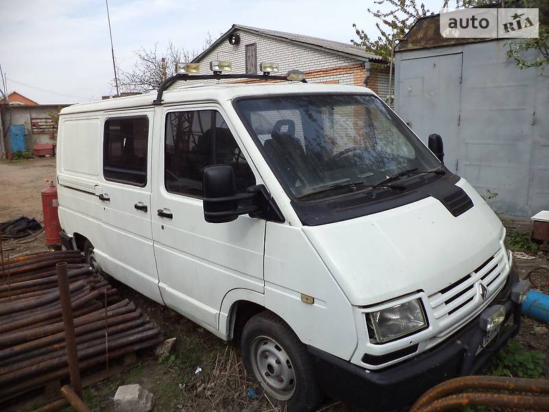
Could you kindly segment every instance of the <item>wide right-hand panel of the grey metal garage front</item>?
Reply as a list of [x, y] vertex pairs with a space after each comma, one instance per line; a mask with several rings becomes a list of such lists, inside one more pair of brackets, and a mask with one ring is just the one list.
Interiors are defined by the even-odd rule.
[[464, 48], [458, 172], [480, 194], [498, 193], [494, 207], [529, 216], [536, 70], [519, 70], [502, 42]]

